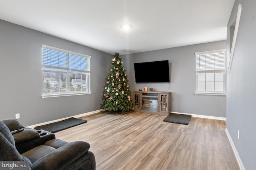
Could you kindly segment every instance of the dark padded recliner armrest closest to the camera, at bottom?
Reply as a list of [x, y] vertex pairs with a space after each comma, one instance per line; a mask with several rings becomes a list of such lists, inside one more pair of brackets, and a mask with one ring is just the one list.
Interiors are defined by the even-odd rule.
[[[32, 164], [33, 170], [64, 169], [88, 152], [90, 144], [84, 141], [67, 143], [66, 145], [50, 152]], [[89, 157], [89, 156], [88, 156]]]

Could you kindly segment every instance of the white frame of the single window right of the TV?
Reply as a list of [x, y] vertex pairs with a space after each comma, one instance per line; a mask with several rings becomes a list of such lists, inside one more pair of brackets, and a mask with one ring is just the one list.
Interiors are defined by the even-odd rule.
[[[203, 55], [203, 54], [209, 54], [209, 53], [219, 53], [219, 52], [225, 53], [225, 59], [224, 59], [225, 69], [197, 70], [197, 55]], [[196, 91], [195, 91], [195, 94], [226, 96], [226, 49], [197, 52], [197, 53], [195, 53], [195, 56], [196, 56]], [[220, 91], [198, 91], [198, 74], [200, 74], [200, 73], [220, 73], [220, 72], [223, 73], [223, 91], [222, 92], [220, 92]], [[215, 82], [216, 81], [214, 80], [214, 83]]]

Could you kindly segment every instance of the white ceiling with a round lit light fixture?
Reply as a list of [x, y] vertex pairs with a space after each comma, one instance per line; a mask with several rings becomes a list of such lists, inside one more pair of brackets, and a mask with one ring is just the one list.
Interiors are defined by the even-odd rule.
[[225, 40], [234, 1], [0, 0], [0, 19], [124, 55]]

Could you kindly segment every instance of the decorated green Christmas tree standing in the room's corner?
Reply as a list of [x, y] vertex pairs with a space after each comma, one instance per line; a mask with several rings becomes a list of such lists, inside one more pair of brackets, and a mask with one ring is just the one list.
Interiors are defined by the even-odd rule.
[[111, 68], [106, 78], [106, 86], [103, 92], [102, 106], [110, 111], [128, 111], [133, 108], [130, 99], [130, 84], [124, 70], [122, 59], [119, 53], [115, 53], [112, 59]]

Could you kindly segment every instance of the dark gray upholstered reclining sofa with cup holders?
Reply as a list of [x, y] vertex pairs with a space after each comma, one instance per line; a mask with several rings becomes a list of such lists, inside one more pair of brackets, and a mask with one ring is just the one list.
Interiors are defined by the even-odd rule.
[[[17, 129], [23, 131], [12, 134]], [[0, 121], [0, 160], [28, 161], [32, 170], [95, 170], [94, 154], [84, 141], [65, 142], [48, 131], [26, 128], [17, 119]]]

